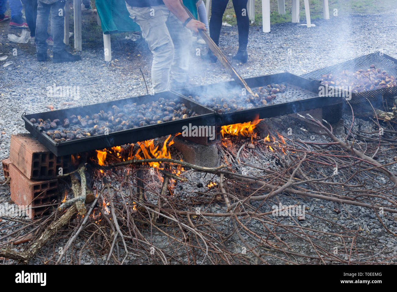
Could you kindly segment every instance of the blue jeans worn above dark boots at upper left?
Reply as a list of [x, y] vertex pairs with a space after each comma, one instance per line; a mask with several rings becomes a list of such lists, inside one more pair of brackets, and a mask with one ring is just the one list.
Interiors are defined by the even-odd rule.
[[[64, 43], [64, 10], [65, 2], [57, 1], [54, 4], [44, 4], [40, 0], [37, 2], [37, 21], [36, 21], [36, 52], [44, 54], [47, 52], [47, 29], [48, 15], [51, 12], [51, 36], [54, 40], [52, 52], [61, 52], [65, 49]], [[60, 10], [62, 9], [62, 16]]]

